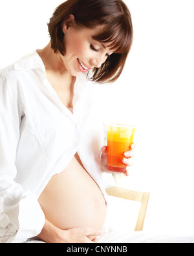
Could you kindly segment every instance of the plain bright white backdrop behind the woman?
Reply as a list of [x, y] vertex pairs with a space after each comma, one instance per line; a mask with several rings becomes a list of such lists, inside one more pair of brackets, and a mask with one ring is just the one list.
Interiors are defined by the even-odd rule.
[[[62, 2], [1, 0], [0, 68], [48, 43], [47, 22]], [[151, 192], [145, 231], [194, 233], [193, 1], [125, 3], [133, 47], [104, 97], [107, 119], [136, 125], [135, 165], [125, 183]]]

